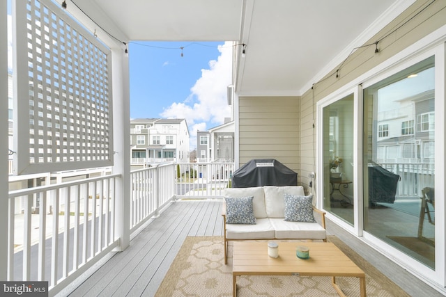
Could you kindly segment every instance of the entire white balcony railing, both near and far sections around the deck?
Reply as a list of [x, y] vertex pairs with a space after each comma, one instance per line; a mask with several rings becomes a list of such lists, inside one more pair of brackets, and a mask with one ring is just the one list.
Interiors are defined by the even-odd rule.
[[[118, 211], [121, 175], [78, 179], [9, 191], [8, 280], [46, 280], [49, 296], [64, 289], [118, 248], [117, 225], [130, 218], [128, 234], [160, 209], [182, 198], [223, 197], [233, 163], [160, 164], [130, 172], [130, 214]], [[65, 176], [65, 175], [64, 175]], [[67, 177], [67, 176], [65, 176]], [[27, 184], [35, 177], [11, 177]]]

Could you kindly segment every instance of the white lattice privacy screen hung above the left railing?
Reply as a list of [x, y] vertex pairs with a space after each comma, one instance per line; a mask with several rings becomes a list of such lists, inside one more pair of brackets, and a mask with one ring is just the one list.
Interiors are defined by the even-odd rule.
[[16, 7], [15, 173], [112, 165], [111, 51], [52, 1]]

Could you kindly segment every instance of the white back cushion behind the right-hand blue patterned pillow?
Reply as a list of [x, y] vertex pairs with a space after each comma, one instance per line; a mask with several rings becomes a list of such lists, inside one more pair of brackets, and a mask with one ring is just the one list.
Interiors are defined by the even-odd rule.
[[268, 218], [285, 217], [285, 193], [305, 196], [303, 186], [263, 186], [265, 206]]

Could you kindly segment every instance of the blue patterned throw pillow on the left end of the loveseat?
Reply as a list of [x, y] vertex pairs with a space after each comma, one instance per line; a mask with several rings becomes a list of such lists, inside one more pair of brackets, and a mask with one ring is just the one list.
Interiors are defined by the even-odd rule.
[[232, 198], [225, 197], [226, 224], [251, 224], [256, 223], [252, 200], [254, 197]]

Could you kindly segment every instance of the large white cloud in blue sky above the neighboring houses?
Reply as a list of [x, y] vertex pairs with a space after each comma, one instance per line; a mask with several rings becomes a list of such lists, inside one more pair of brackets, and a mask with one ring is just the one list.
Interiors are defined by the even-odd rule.
[[220, 56], [209, 62], [209, 69], [201, 70], [201, 77], [190, 89], [189, 97], [184, 102], [171, 104], [160, 114], [164, 118], [186, 119], [191, 147], [197, 143], [197, 129], [206, 131], [222, 125], [224, 118], [231, 116], [227, 86], [231, 84], [232, 77], [232, 48], [231, 42], [220, 46]]

